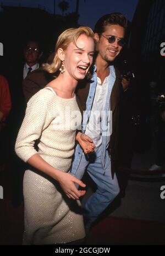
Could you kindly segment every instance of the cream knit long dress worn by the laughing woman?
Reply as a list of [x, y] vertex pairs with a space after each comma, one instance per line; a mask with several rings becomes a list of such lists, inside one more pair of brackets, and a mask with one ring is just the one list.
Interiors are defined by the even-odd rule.
[[[37, 151], [53, 167], [69, 172], [74, 154], [75, 131], [81, 113], [72, 99], [52, 88], [38, 91], [28, 102], [15, 144], [17, 155], [27, 161]], [[85, 237], [80, 202], [68, 199], [58, 182], [30, 168], [24, 175], [25, 232], [23, 244], [67, 243]]]

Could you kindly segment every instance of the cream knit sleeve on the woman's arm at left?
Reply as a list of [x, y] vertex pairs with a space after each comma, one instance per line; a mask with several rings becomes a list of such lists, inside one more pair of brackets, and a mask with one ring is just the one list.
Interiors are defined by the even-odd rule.
[[31, 97], [18, 133], [15, 152], [25, 162], [37, 154], [34, 148], [35, 140], [40, 138], [42, 130], [48, 126], [47, 91], [39, 91]]

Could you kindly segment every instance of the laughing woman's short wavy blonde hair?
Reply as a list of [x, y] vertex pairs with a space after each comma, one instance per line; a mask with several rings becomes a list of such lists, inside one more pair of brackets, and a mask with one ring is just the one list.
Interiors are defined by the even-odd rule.
[[58, 49], [62, 48], [63, 51], [67, 50], [67, 47], [70, 42], [73, 42], [76, 45], [76, 41], [80, 35], [86, 35], [94, 39], [94, 32], [92, 31], [89, 26], [80, 26], [80, 28], [72, 28], [67, 29], [59, 35], [56, 43], [56, 49], [54, 52], [54, 59], [51, 64], [45, 63], [42, 65], [43, 69], [46, 70], [48, 73], [56, 73], [59, 68], [61, 67], [62, 61], [58, 57]]

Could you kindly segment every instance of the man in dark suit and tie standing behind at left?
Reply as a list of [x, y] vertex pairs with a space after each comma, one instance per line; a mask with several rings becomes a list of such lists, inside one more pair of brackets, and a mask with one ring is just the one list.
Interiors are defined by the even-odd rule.
[[[23, 94], [23, 80], [31, 73], [40, 67], [40, 59], [43, 51], [35, 39], [27, 40], [23, 49], [23, 56], [18, 56], [17, 63], [11, 67], [9, 74], [9, 86], [12, 96], [12, 111], [9, 117], [9, 133], [10, 133], [10, 153], [12, 158], [12, 185], [13, 185], [13, 204], [20, 205], [23, 198], [23, 176], [25, 164], [19, 159], [14, 152], [14, 144], [17, 138], [18, 130], [25, 115], [26, 102]], [[19, 58], [20, 57], [20, 58]], [[14, 59], [15, 61], [15, 59]]]

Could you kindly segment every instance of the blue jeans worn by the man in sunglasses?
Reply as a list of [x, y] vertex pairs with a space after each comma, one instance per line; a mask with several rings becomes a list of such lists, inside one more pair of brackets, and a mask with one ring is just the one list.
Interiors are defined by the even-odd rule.
[[[114, 174], [114, 178], [112, 179], [111, 159], [109, 158], [108, 151], [106, 150], [105, 168], [102, 168], [101, 152], [100, 147], [95, 154], [90, 155], [89, 159], [85, 155], [82, 155], [78, 170], [75, 173], [75, 177], [81, 179], [85, 170], [87, 170], [97, 185], [96, 192], [91, 195], [84, 206], [86, 228], [91, 226], [92, 222], [97, 219], [98, 215], [107, 208], [119, 193], [116, 174]], [[74, 166], [74, 161], [72, 166]]]

